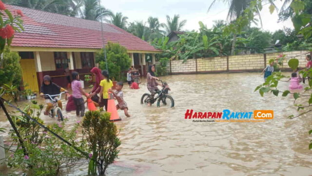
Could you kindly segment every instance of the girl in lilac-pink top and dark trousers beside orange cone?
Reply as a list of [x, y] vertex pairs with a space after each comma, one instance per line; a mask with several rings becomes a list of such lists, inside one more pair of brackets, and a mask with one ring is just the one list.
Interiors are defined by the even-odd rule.
[[86, 98], [90, 98], [83, 90], [82, 86], [79, 80], [79, 74], [78, 72], [72, 73], [72, 90], [73, 90], [73, 99], [76, 106], [76, 115], [80, 117], [84, 116], [84, 100], [82, 98], [82, 95], [84, 95]]

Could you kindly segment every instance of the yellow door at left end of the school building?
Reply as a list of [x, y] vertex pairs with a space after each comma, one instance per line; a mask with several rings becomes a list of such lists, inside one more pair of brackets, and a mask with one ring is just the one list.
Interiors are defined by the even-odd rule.
[[28, 84], [25, 88], [39, 93], [35, 59], [20, 59], [20, 66], [24, 85]]

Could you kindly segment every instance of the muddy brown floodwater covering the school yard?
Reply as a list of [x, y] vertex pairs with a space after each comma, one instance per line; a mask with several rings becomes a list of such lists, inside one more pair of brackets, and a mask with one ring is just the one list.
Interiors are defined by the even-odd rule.
[[[175, 75], [162, 77], [175, 99], [174, 108], [140, 104], [147, 93], [145, 80], [139, 90], [124, 85], [129, 114], [118, 111], [122, 121], [119, 158], [108, 176], [308, 176], [312, 174], [311, 114], [298, 115], [293, 98], [265, 94], [254, 88], [262, 83], [259, 73]], [[286, 82], [279, 88], [288, 89]], [[63, 102], [65, 106], [65, 102]], [[273, 110], [274, 118], [265, 122], [193, 122], [184, 119], [187, 109], [196, 112], [253, 112]], [[80, 117], [66, 113], [68, 126]], [[42, 116], [46, 123], [54, 123]], [[0, 117], [0, 127], [8, 127]], [[5, 134], [6, 135], [6, 134]], [[6, 140], [9, 140], [6, 138]], [[86, 176], [87, 164], [69, 172]]]

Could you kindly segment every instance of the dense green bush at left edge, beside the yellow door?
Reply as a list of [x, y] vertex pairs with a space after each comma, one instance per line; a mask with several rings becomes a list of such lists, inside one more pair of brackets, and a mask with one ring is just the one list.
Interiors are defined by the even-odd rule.
[[[1, 65], [1, 64], [0, 64]], [[3, 61], [0, 67], [0, 86], [4, 84], [20, 86], [22, 74], [20, 68], [20, 55], [11, 52], [8, 47], [3, 52]]]

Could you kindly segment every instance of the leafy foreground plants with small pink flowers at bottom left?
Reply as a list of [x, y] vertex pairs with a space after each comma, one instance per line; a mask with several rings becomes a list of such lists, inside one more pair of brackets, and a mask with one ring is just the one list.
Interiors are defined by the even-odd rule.
[[[43, 120], [39, 118], [43, 105], [38, 105], [36, 101], [32, 101], [30, 105], [25, 104], [20, 108], [23, 112], [38, 120], [39, 123], [44, 124]], [[11, 130], [9, 135], [14, 143], [18, 144], [18, 147], [16, 152], [7, 158], [9, 167], [20, 169], [29, 176], [58, 176], [63, 169], [74, 167], [84, 157], [59, 138], [42, 131], [40, 126], [28, 117], [15, 112], [11, 112], [10, 115], [23, 140], [26, 155], [20, 147], [18, 137]], [[65, 121], [67, 121], [67, 118], [65, 118]], [[64, 122], [48, 125], [48, 128], [53, 132], [75, 146], [84, 149], [85, 142], [76, 140], [78, 127], [79, 124], [77, 123], [71, 130], [67, 131], [64, 128]]]

